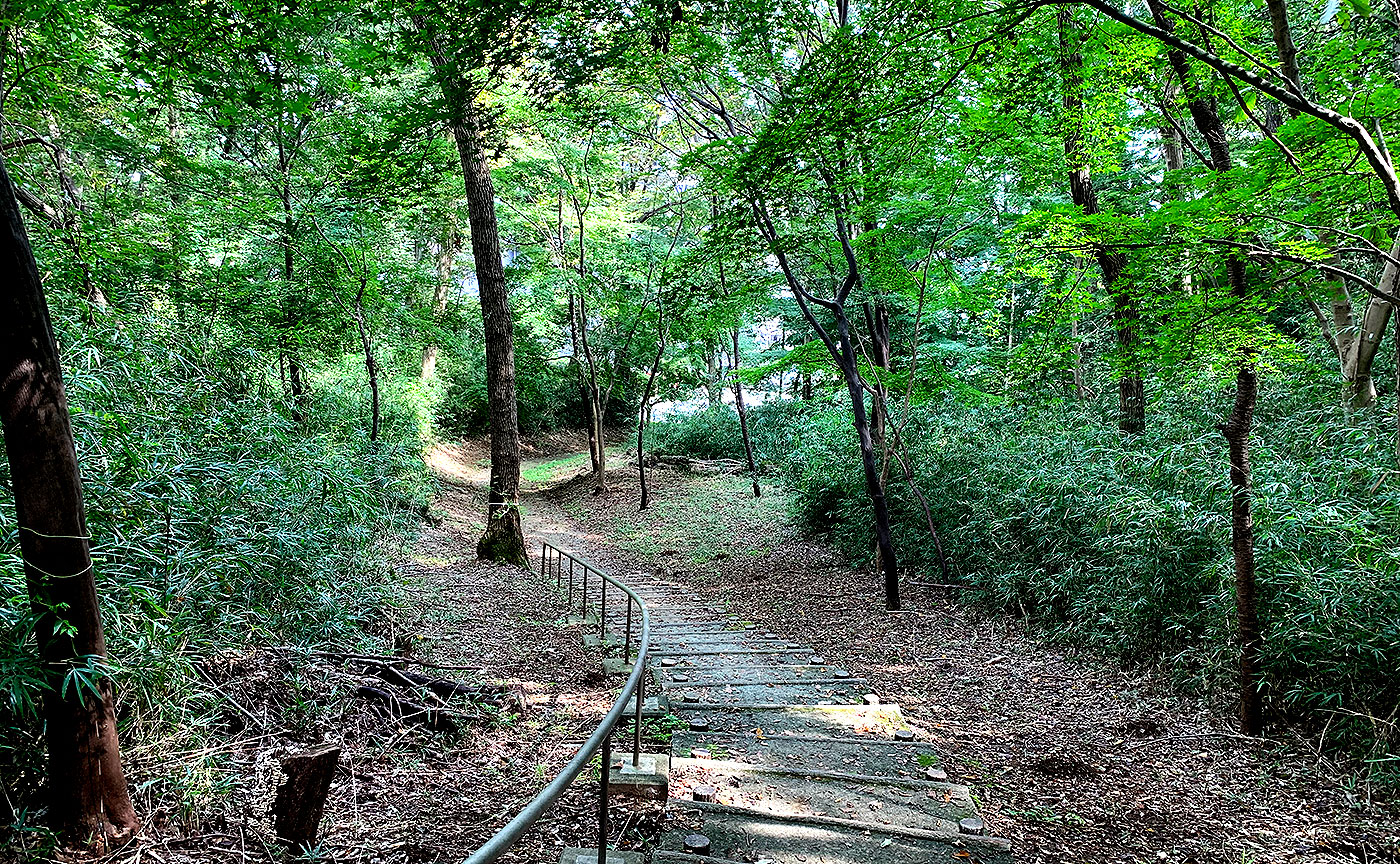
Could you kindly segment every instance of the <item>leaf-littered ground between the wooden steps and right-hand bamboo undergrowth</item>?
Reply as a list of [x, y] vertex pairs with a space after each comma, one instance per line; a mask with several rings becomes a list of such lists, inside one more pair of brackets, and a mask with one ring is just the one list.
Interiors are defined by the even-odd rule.
[[797, 535], [781, 493], [654, 475], [612, 493], [536, 496], [531, 525], [615, 573], [687, 585], [700, 604], [813, 646], [930, 734], [1018, 861], [1394, 861], [1393, 811], [1294, 744], [1240, 741], [1154, 675], [1042, 643], [945, 594], [883, 612], [876, 580]]

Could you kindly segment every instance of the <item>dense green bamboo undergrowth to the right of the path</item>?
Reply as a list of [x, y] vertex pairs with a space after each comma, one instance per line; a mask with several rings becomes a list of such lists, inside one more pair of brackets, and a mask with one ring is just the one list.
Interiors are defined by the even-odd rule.
[[[1393, 419], [1348, 416], [1336, 386], [1266, 381], [1253, 451], [1266, 674], [1280, 717], [1357, 748], [1394, 784], [1400, 710], [1400, 472]], [[1162, 388], [1166, 392], [1169, 388]], [[927, 405], [903, 438], [951, 578], [976, 602], [1054, 639], [1182, 683], [1233, 686], [1228, 393], [1177, 391], [1148, 431], [1112, 406]], [[855, 559], [874, 552], [850, 409], [840, 399], [750, 413], [760, 458], [784, 472], [799, 522]], [[654, 426], [652, 447], [742, 457], [721, 406]], [[896, 546], [941, 581], [918, 500], [890, 465]]]

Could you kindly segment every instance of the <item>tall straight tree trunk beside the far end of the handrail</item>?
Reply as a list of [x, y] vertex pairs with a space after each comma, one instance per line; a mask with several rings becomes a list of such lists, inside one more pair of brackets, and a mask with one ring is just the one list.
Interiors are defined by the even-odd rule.
[[515, 342], [510, 288], [501, 262], [501, 238], [496, 224], [496, 188], [483, 147], [477, 88], [455, 71], [437, 39], [420, 17], [414, 25], [426, 38], [428, 59], [442, 95], [452, 111], [448, 126], [462, 160], [466, 213], [472, 234], [472, 262], [482, 300], [486, 330], [486, 400], [491, 414], [491, 489], [487, 493], [486, 531], [476, 555], [491, 562], [526, 564], [525, 534], [521, 528], [519, 486], [521, 445], [515, 413]]

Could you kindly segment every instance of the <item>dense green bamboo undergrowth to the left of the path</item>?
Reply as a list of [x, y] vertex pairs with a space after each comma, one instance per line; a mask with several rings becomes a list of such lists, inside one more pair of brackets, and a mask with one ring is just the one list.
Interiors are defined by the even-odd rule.
[[[386, 381], [381, 440], [371, 444], [356, 357], [314, 371], [298, 423], [276, 363], [237, 347], [237, 335], [214, 322], [57, 318], [67, 322], [60, 343], [133, 793], [192, 812], [214, 791], [213, 776], [150, 756], [223, 735], [225, 709], [196, 665], [252, 646], [354, 644], [392, 602], [389, 553], [428, 493], [424, 395]], [[0, 464], [0, 513], [13, 507]], [[20, 830], [42, 822], [31, 623], [8, 521], [0, 819]]]

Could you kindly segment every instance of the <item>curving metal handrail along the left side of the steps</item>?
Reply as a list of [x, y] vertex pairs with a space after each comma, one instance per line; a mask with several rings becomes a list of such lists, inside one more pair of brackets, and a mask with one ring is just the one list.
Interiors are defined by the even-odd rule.
[[[547, 567], [546, 550], [549, 549], [553, 549], [557, 553], [556, 562], [561, 563], [563, 559], [566, 557], [570, 560], [570, 574], [573, 574], [573, 563], [577, 562], [584, 567], [584, 585], [585, 585], [584, 616], [582, 616], [584, 620], [588, 619], [587, 585], [588, 585], [589, 571], [596, 573], [605, 584], [612, 583], [613, 585], [622, 588], [627, 594], [629, 636], [631, 633], [630, 604], [631, 602], [637, 604], [637, 606], [641, 609], [641, 634], [640, 639], [637, 640], [637, 660], [633, 662], [631, 675], [627, 676], [627, 683], [623, 685], [622, 693], [619, 693], [617, 700], [613, 702], [612, 710], [609, 710], [608, 714], [602, 718], [602, 723], [599, 723], [594, 734], [588, 737], [588, 741], [585, 741], [582, 746], [578, 748], [578, 752], [574, 753], [574, 758], [568, 760], [568, 765], [566, 765], [564, 769], [559, 772], [559, 774], [553, 780], [549, 781], [549, 786], [542, 788], [539, 794], [535, 795], [531, 800], [531, 802], [524, 807], [524, 809], [521, 809], [521, 812], [515, 814], [514, 819], [507, 822], [505, 826], [501, 828], [498, 832], [496, 832], [490, 840], [483, 843], [476, 851], [468, 856], [466, 864], [490, 864], [491, 861], [498, 860], [501, 856], [510, 851], [510, 849], [515, 846], [517, 842], [519, 842], [521, 835], [524, 835], [529, 829], [529, 826], [532, 826], [540, 816], [545, 815], [546, 811], [549, 811], [549, 808], [559, 800], [559, 797], [564, 794], [564, 790], [573, 786], [574, 780], [578, 777], [580, 773], [582, 773], [584, 766], [588, 765], [588, 760], [592, 759], [594, 753], [596, 753], [601, 748], [603, 748], [605, 742], [612, 741], [612, 734], [617, 727], [617, 721], [622, 720], [622, 716], [627, 711], [627, 702], [631, 699], [633, 693], [637, 693], [637, 724], [638, 724], [638, 734], [637, 734], [638, 745], [634, 749], [640, 749], [641, 703], [643, 703], [643, 692], [645, 689], [645, 685], [643, 683], [643, 675], [645, 675], [647, 671], [647, 651], [651, 648], [651, 612], [647, 609], [647, 604], [643, 602], [641, 597], [638, 597], [637, 592], [629, 588], [624, 583], [608, 576], [606, 573], [598, 570], [596, 567], [589, 566], [587, 562], [574, 557], [573, 555], [564, 552], [563, 549], [554, 546], [553, 543], [545, 542], [540, 548], [540, 571], [545, 571], [545, 569]], [[570, 581], [570, 590], [573, 590], [573, 581]], [[606, 591], [606, 587], [603, 588], [603, 591]], [[608, 620], [606, 594], [603, 594], [603, 604], [599, 608], [598, 618], [606, 626]], [[609, 767], [610, 766], [608, 765], [602, 766], [605, 790], [606, 790], [606, 779]], [[603, 800], [603, 807], [606, 807], [606, 797]], [[599, 839], [598, 844], [599, 844], [599, 853], [603, 853], [606, 847], [606, 835], [602, 839]], [[602, 854], [599, 854], [599, 860], [601, 858]]]

